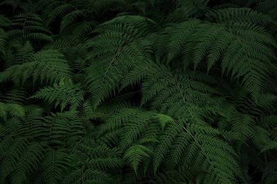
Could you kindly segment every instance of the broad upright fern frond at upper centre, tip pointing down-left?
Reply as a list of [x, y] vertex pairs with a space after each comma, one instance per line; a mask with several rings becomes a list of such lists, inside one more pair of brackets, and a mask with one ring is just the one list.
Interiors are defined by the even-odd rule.
[[100, 35], [89, 41], [94, 61], [86, 71], [86, 85], [95, 108], [116, 90], [139, 83], [151, 66], [150, 43], [139, 38], [134, 26], [104, 23], [97, 31]]

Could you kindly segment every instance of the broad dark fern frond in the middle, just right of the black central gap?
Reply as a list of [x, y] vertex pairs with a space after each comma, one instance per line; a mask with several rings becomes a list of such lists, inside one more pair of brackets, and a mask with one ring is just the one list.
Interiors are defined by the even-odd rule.
[[[202, 107], [204, 104], [207, 105], [211, 102], [206, 101], [208, 96], [217, 93], [205, 83], [194, 80], [191, 77], [194, 74], [181, 74], [181, 71], [179, 74], [173, 74], [163, 66], [158, 67], [157, 71], [159, 72], [154, 70], [152, 74], [150, 73], [149, 78], [143, 83], [141, 104], [150, 102], [152, 108], [168, 112], [170, 116], [180, 117], [181, 114], [190, 116], [194, 113], [193, 108], [196, 108], [197, 105]], [[197, 111], [199, 112], [199, 109]]]

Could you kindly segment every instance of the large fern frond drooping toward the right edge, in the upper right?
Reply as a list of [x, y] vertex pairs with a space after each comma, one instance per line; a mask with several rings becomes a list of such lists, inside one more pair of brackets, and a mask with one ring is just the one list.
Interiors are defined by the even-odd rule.
[[[207, 29], [208, 28], [204, 25], [203, 30], [200, 32], [203, 32], [205, 35]], [[244, 29], [246, 28], [244, 27]], [[258, 31], [260, 30], [257, 30], [257, 34], [263, 35], [259, 36], [260, 38], [266, 37], [266, 39], [259, 39], [258, 41], [263, 40], [263, 42], [271, 42], [270, 38], [266, 36], [266, 34], [262, 32], [258, 33]], [[204, 41], [204, 38], [199, 37], [201, 39], [199, 39], [200, 46], [196, 49], [197, 52], [195, 53], [195, 56], [198, 57], [198, 59], [195, 59], [195, 65], [197, 65], [197, 63], [202, 61], [202, 59], [208, 55], [208, 70], [210, 70], [216, 61], [222, 59], [223, 73], [231, 73], [231, 79], [242, 78], [241, 83], [244, 85], [244, 88], [249, 90], [249, 92], [253, 92], [253, 94], [260, 93], [263, 88], [263, 84], [265, 83], [264, 81], [266, 81], [269, 76], [271, 56], [274, 55], [272, 54], [272, 51], [270, 51], [271, 49], [265, 47], [265, 45], [262, 45], [262, 43], [259, 43], [258, 41], [247, 40], [250, 39], [248, 36], [242, 38], [242, 35], [240, 35], [239, 32], [230, 33], [226, 32], [224, 29], [219, 31], [218, 28], [213, 28], [213, 32], [217, 32], [217, 34], [224, 36], [220, 36], [219, 41], [213, 41], [213, 38], [216, 38], [217, 36], [211, 37], [209, 34], [206, 34], [207, 41]], [[205, 50], [208, 45], [212, 45], [214, 42], [216, 43], [216, 45], [213, 46], [214, 49], [209, 51], [210, 53], [207, 53]], [[249, 46], [250, 44], [251, 47]], [[268, 51], [264, 52], [264, 50]]]

